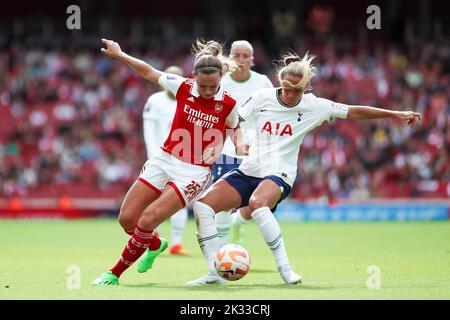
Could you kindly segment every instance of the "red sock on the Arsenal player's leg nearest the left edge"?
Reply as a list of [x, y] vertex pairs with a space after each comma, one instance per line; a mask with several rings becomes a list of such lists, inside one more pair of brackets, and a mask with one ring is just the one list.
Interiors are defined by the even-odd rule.
[[153, 231], [147, 231], [136, 227], [134, 234], [128, 240], [127, 246], [122, 252], [122, 257], [117, 261], [116, 265], [111, 268], [111, 272], [117, 277], [127, 270], [147, 249], [152, 241]]

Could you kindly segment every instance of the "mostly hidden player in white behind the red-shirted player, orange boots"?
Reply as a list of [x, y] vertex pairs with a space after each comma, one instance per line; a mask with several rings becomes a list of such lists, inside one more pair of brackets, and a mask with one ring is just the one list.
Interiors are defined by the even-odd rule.
[[[177, 66], [170, 66], [165, 73], [183, 76], [183, 70]], [[162, 90], [152, 94], [144, 106], [142, 117], [144, 120], [144, 141], [147, 149], [147, 159], [151, 160], [163, 146], [170, 132], [172, 120], [177, 108], [177, 99], [172, 92]], [[183, 208], [170, 217], [172, 226], [172, 241], [170, 254], [188, 255], [183, 249], [183, 233], [188, 219], [188, 210]], [[155, 228], [159, 231], [159, 227]]]

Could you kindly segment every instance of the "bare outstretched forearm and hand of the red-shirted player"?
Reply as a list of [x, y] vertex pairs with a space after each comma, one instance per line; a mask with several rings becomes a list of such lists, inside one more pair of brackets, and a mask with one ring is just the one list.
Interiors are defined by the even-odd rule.
[[158, 83], [159, 77], [162, 72], [153, 68], [148, 63], [142, 60], [136, 59], [120, 49], [117, 42], [107, 39], [102, 39], [102, 42], [106, 45], [106, 48], [102, 48], [101, 51], [111, 58], [119, 59], [129, 65], [139, 75], [151, 82]]

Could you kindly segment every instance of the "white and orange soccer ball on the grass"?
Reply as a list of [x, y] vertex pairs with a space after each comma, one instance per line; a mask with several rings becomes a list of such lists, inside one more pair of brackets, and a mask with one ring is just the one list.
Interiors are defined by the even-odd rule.
[[250, 256], [240, 245], [226, 244], [214, 256], [214, 267], [222, 278], [236, 281], [249, 272]]

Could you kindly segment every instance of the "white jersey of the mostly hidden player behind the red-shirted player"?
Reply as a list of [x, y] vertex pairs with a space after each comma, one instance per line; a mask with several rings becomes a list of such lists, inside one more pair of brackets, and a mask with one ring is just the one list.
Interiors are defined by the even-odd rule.
[[148, 159], [159, 151], [167, 139], [176, 108], [177, 100], [169, 97], [167, 91], [154, 93], [147, 99], [142, 117]]

